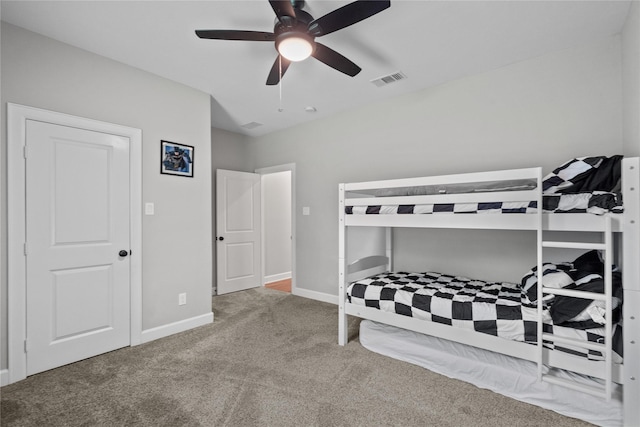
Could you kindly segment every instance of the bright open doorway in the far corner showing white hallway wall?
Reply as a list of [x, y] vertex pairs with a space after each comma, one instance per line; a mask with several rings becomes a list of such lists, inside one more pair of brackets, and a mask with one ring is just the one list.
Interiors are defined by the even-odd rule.
[[262, 284], [295, 294], [295, 165], [256, 173], [262, 186]]

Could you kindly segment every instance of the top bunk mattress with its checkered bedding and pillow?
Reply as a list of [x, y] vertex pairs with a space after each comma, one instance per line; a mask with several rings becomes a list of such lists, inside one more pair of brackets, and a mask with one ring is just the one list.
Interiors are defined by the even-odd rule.
[[[541, 181], [543, 213], [623, 212], [621, 161], [622, 156], [600, 156], [565, 162]], [[537, 180], [522, 178], [351, 190], [345, 214], [536, 213], [537, 200], [512, 195], [535, 194], [537, 187]]]

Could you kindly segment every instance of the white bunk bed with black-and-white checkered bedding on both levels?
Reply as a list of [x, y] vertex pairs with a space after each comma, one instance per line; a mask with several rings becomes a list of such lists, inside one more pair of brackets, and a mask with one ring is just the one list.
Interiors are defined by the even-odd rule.
[[[544, 177], [525, 168], [340, 184], [339, 344], [351, 315], [523, 359], [554, 387], [604, 402], [622, 389], [624, 425], [640, 424], [639, 171], [638, 158], [601, 156]], [[349, 230], [368, 227], [385, 230], [384, 248], [348, 259], [347, 245], [358, 244]], [[529, 231], [535, 264], [515, 284], [394, 271], [398, 227]], [[583, 254], [552, 264], [546, 248]]]

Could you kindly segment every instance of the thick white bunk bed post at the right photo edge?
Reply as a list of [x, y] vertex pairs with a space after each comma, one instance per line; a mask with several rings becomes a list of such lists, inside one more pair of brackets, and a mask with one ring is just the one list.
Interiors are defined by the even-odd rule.
[[624, 221], [622, 224], [623, 260], [622, 285], [624, 288], [624, 386], [623, 423], [640, 424], [640, 159], [622, 160], [622, 198]]

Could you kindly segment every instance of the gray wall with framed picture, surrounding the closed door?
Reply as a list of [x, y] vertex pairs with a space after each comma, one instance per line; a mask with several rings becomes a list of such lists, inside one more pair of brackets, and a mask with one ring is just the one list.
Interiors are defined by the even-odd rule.
[[[211, 312], [211, 128], [207, 94], [2, 23], [2, 128], [7, 102], [142, 129], [143, 329]], [[160, 140], [195, 147], [194, 178], [160, 175]], [[1, 174], [6, 177], [6, 133]], [[0, 366], [7, 368], [6, 181], [2, 203]], [[174, 232], [179, 229], [177, 232]], [[178, 294], [187, 304], [178, 306]]]

